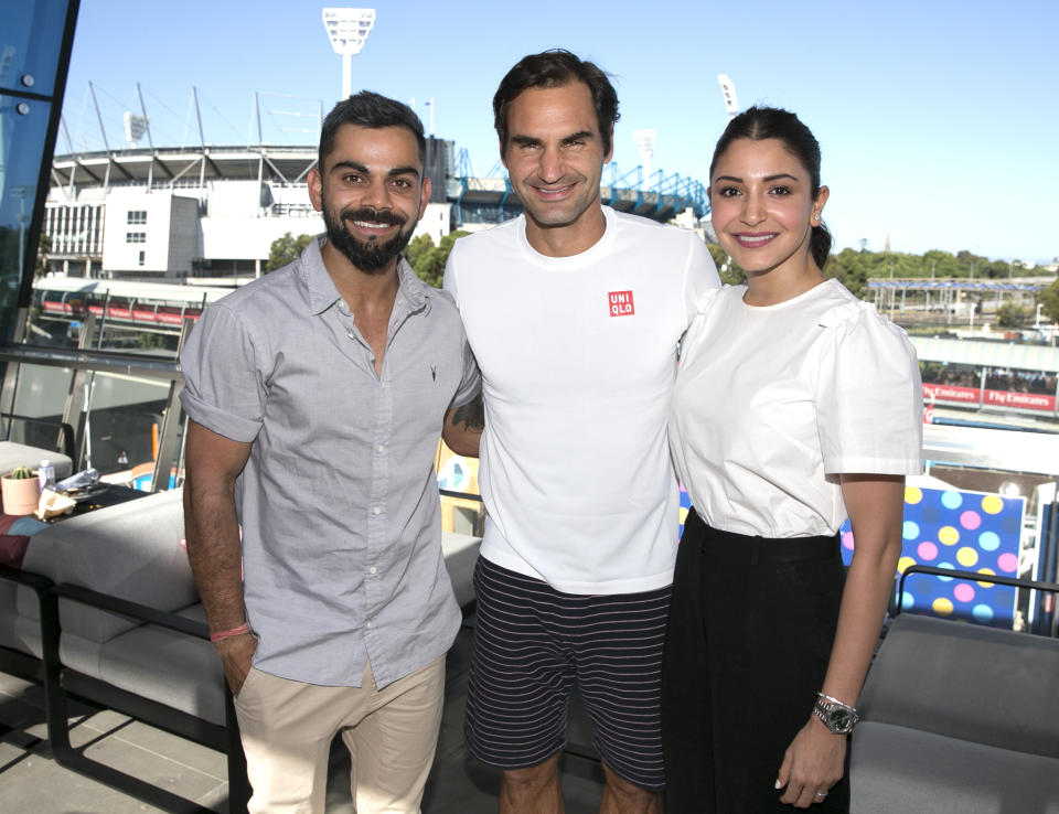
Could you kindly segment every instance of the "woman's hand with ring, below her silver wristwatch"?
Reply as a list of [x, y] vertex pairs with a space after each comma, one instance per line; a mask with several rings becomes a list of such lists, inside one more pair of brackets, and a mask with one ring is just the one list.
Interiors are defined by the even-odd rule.
[[815, 716], [794, 736], [783, 753], [775, 788], [787, 786], [781, 803], [807, 808], [822, 803], [827, 792], [842, 780], [846, 759], [846, 736], [835, 735]]

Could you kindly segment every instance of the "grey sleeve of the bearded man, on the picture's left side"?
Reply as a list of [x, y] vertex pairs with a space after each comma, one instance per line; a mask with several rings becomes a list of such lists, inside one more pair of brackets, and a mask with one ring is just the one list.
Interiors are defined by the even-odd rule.
[[207, 308], [180, 353], [184, 389], [180, 401], [191, 418], [233, 441], [257, 438], [265, 417], [267, 372], [253, 338], [232, 308]]

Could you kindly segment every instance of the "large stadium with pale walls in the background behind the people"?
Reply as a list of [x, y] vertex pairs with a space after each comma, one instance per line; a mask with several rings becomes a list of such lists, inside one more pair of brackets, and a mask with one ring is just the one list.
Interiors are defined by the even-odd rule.
[[[274, 240], [323, 231], [306, 176], [314, 147], [132, 148], [56, 156], [44, 232], [50, 270], [72, 277], [249, 278]], [[506, 178], [468, 178], [452, 141], [427, 139], [434, 192], [416, 235], [435, 245], [456, 228], [485, 228], [522, 212]], [[697, 181], [610, 164], [603, 202], [657, 221], [708, 212]], [[646, 188], [646, 189], [644, 189]]]

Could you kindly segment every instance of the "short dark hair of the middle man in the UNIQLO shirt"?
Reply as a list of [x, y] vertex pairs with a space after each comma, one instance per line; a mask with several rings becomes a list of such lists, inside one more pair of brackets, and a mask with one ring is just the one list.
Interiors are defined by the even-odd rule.
[[598, 65], [578, 58], [569, 51], [552, 49], [523, 56], [500, 81], [493, 96], [493, 126], [500, 137], [500, 154], [507, 149], [507, 108], [523, 90], [535, 87], [561, 87], [571, 82], [584, 82], [592, 94], [592, 107], [599, 121], [603, 152], [610, 152], [618, 113], [618, 93], [610, 84], [609, 74]]

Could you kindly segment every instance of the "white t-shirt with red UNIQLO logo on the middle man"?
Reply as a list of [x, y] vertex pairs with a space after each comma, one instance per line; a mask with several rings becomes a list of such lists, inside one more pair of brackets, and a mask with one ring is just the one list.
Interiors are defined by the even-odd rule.
[[694, 233], [603, 213], [574, 257], [535, 251], [521, 216], [457, 240], [445, 271], [482, 372], [482, 556], [576, 595], [673, 579], [676, 345], [719, 285]]

